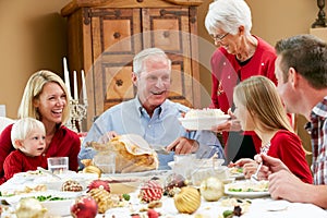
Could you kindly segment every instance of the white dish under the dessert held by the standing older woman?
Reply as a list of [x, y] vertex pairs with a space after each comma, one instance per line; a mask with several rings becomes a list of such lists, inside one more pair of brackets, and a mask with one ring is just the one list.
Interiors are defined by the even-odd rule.
[[186, 130], [211, 130], [213, 126], [225, 123], [230, 118], [223, 114], [216, 118], [179, 118]]

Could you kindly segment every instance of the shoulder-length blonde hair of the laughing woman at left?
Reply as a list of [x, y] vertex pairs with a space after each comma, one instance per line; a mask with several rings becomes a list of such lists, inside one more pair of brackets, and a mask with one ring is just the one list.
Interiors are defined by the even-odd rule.
[[63, 89], [66, 96], [66, 105], [62, 111], [62, 123], [65, 123], [69, 120], [70, 96], [68, 95], [66, 87], [59, 75], [47, 70], [40, 70], [29, 77], [19, 108], [19, 118], [34, 118], [40, 120], [41, 114], [39, 114], [37, 108], [35, 108], [34, 100], [39, 98], [39, 95], [47, 83], [57, 83]]

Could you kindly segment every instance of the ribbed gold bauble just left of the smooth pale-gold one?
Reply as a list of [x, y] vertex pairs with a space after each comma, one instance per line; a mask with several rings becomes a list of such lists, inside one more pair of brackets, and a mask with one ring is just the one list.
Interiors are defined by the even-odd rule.
[[195, 187], [184, 186], [174, 195], [173, 203], [180, 213], [193, 214], [201, 205], [201, 195]]

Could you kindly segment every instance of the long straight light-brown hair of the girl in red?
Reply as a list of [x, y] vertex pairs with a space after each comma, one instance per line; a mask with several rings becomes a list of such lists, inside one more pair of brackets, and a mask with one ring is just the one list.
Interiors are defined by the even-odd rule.
[[256, 116], [257, 128], [294, 132], [275, 84], [265, 76], [252, 76], [234, 88], [234, 98]]

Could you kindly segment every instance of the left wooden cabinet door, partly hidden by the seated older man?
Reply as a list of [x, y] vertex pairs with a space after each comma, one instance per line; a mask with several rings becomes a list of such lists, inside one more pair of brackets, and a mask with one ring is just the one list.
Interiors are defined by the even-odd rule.
[[92, 10], [96, 116], [134, 97], [131, 73], [133, 57], [142, 48], [140, 11]]

